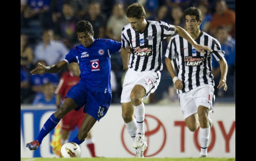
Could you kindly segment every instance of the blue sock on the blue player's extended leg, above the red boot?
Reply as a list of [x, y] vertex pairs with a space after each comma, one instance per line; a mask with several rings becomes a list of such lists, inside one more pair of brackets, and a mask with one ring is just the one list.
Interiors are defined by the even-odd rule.
[[55, 126], [59, 123], [59, 119], [57, 119], [53, 114], [50, 116], [50, 118], [45, 122], [43, 128], [41, 129], [38, 137], [36, 140], [38, 140], [39, 144], [42, 143], [43, 138], [52, 131]]

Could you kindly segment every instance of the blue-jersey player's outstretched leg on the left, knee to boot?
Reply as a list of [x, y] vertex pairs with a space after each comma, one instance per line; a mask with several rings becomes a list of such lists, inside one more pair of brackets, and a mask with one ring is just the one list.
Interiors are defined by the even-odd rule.
[[73, 99], [66, 98], [62, 107], [59, 108], [53, 115], [51, 115], [50, 118], [45, 122], [36, 140], [27, 143], [26, 147], [28, 147], [29, 150], [36, 150], [42, 143], [43, 138], [56, 127], [60, 119], [62, 119], [71, 110], [77, 108], [77, 106], [78, 105], [75, 103]]

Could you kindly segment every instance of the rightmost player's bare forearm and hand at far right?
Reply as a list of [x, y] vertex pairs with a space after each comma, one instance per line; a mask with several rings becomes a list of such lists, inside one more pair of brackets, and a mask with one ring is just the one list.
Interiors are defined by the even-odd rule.
[[221, 78], [219, 81], [219, 85], [217, 86], [218, 89], [224, 88], [224, 91], [227, 91], [227, 61], [224, 57], [219, 62], [220, 72], [221, 72]]

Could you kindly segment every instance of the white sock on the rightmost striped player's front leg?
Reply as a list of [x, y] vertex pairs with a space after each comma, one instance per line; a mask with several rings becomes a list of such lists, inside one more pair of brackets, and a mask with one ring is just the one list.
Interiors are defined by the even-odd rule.
[[207, 155], [209, 135], [210, 135], [210, 127], [208, 128], [200, 127], [199, 129], [199, 137], [200, 137], [200, 144], [201, 144], [200, 155]]

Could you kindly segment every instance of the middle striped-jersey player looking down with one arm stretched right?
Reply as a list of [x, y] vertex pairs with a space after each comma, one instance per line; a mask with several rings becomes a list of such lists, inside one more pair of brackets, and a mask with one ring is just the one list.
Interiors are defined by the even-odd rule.
[[136, 157], [144, 157], [147, 143], [144, 141], [145, 107], [142, 99], [147, 99], [160, 82], [160, 70], [163, 69], [162, 40], [177, 33], [192, 43], [199, 52], [211, 49], [197, 44], [179, 26], [163, 21], [146, 21], [146, 13], [141, 4], [131, 4], [126, 9], [126, 16], [129, 24], [124, 26], [121, 35], [123, 67], [128, 69], [121, 94], [122, 117], [134, 141]]

